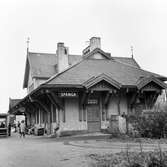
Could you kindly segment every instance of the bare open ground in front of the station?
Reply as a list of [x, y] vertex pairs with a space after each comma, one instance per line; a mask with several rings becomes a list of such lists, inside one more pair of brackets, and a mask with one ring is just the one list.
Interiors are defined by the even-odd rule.
[[[101, 138], [27, 136], [23, 139], [13, 134], [12, 137], [0, 138], [0, 167], [87, 167], [87, 154], [120, 152], [126, 150], [127, 144], [131, 151], [141, 149], [138, 143]], [[142, 149], [150, 151], [157, 147], [157, 144], [143, 144]], [[162, 144], [161, 148], [167, 150], [167, 144]]]

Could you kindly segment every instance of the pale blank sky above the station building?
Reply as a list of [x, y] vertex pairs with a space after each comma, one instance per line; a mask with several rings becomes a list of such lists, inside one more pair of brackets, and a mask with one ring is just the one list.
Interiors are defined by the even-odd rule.
[[131, 57], [151, 72], [167, 76], [166, 0], [0, 0], [0, 112], [9, 98], [23, 98], [26, 40], [31, 52], [56, 53], [64, 42], [81, 54], [101, 37], [111, 56]]

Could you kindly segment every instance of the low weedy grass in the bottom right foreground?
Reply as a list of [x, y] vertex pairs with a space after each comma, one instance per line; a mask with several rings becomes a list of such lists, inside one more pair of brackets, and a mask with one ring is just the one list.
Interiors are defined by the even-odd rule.
[[167, 167], [167, 152], [160, 147], [154, 152], [125, 152], [116, 154], [90, 154], [90, 167]]

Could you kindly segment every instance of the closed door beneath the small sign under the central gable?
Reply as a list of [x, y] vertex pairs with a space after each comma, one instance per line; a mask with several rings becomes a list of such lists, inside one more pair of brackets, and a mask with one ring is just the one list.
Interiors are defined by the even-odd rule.
[[87, 123], [89, 132], [100, 131], [100, 109], [99, 105], [87, 106]]

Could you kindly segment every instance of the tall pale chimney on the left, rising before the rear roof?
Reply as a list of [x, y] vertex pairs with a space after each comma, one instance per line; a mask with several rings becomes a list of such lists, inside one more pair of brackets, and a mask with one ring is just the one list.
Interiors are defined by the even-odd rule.
[[68, 68], [68, 48], [64, 46], [63, 42], [57, 43], [56, 54], [58, 72], [62, 72]]

